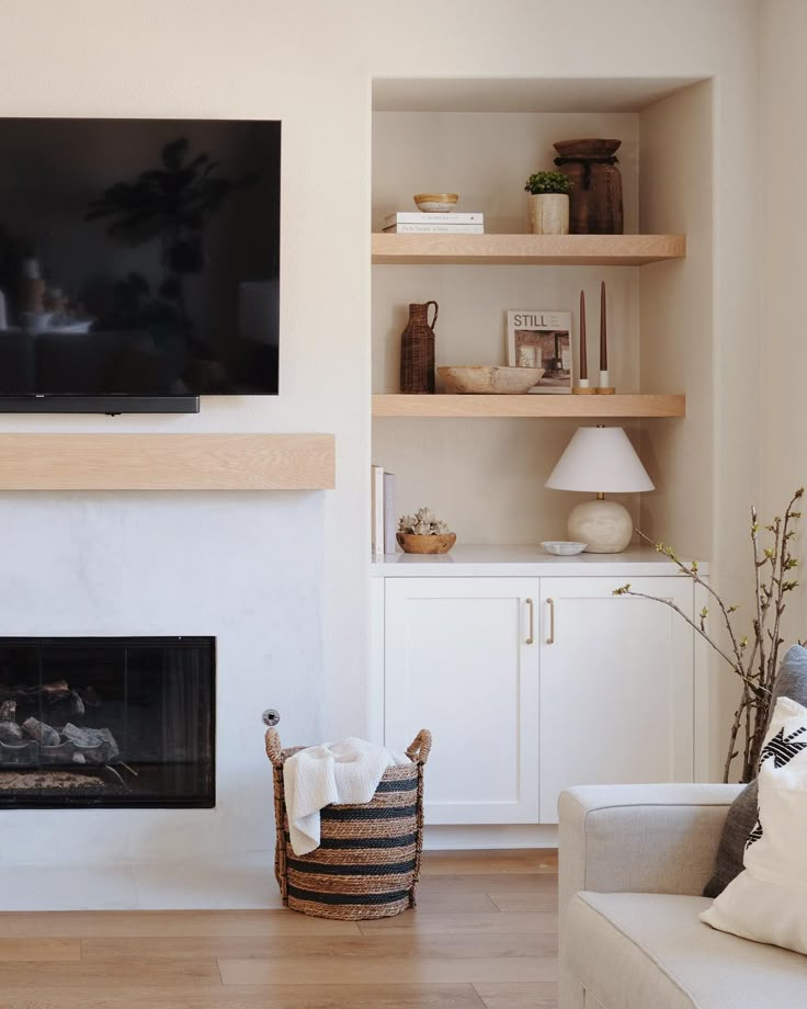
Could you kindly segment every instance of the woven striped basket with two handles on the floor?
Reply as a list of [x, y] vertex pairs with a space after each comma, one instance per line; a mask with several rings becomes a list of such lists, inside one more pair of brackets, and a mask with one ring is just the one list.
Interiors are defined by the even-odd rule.
[[296, 855], [288, 839], [283, 763], [300, 747], [282, 749], [277, 732], [269, 729], [277, 828], [274, 874], [287, 907], [353, 921], [389, 918], [414, 907], [423, 847], [423, 767], [431, 745], [431, 734], [421, 729], [407, 750], [412, 763], [387, 768], [371, 802], [326, 806], [319, 848]]

